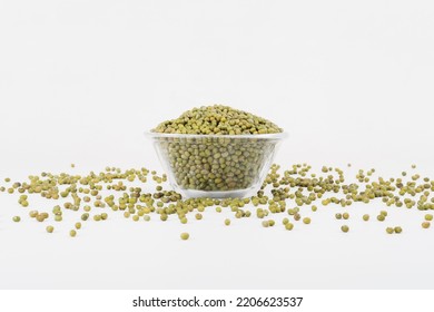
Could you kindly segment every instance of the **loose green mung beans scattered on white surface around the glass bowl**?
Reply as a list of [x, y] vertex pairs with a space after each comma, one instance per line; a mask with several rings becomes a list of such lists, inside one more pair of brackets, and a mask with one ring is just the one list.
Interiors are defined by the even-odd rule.
[[[188, 153], [191, 153], [187, 150]], [[196, 152], [194, 152], [196, 153]], [[223, 154], [221, 152], [213, 152]], [[221, 157], [221, 155], [220, 155]], [[219, 159], [219, 158], [218, 158]], [[231, 164], [236, 167], [237, 162]], [[30, 176], [29, 181], [13, 183], [9, 188], [4, 187], [10, 194], [18, 193], [18, 202], [21, 206], [31, 206], [31, 197], [40, 195], [47, 202], [56, 203], [51, 208], [30, 211], [29, 216], [39, 222], [52, 218], [61, 222], [63, 216], [69, 216], [72, 212], [80, 212], [81, 221], [89, 218], [91, 206], [93, 209], [105, 212], [97, 213], [92, 216], [95, 221], [108, 218], [106, 212], [122, 213], [126, 218], [132, 221], [150, 221], [151, 215], [158, 216], [161, 221], [167, 221], [172, 216], [177, 217], [181, 224], [187, 224], [187, 215], [193, 214], [197, 220], [203, 218], [208, 213], [208, 207], [215, 207], [220, 213], [223, 208], [231, 212], [236, 218], [246, 218], [255, 216], [262, 220], [262, 225], [270, 227], [275, 225], [275, 220], [280, 213], [286, 216], [290, 215], [295, 221], [303, 220], [303, 223], [309, 224], [310, 217], [302, 217], [305, 209], [315, 212], [316, 203], [323, 203], [324, 206], [337, 205], [341, 207], [351, 206], [353, 203], [372, 203], [379, 198], [385, 206], [396, 206], [406, 208], [417, 208], [424, 212], [423, 228], [431, 226], [433, 214], [427, 213], [434, 209], [434, 181], [427, 177], [421, 178], [421, 175], [413, 174], [405, 178], [404, 174], [397, 178], [375, 178], [374, 169], [359, 170], [356, 175], [358, 183], [346, 183], [344, 172], [339, 168], [324, 166], [320, 173], [312, 173], [312, 167], [307, 164], [293, 165], [290, 168], [280, 170], [280, 167], [273, 165], [260, 189], [248, 198], [183, 198], [174, 191], [167, 189], [165, 183], [166, 175], [151, 173], [146, 168], [121, 170], [119, 168], [106, 168], [101, 173], [90, 173], [88, 175], [55, 175], [42, 173], [40, 176]], [[151, 174], [152, 181], [157, 184], [154, 193], [147, 193], [141, 187], [129, 186], [130, 183], [138, 181], [146, 183]], [[9, 181], [10, 182], [10, 181]], [[152, 188], [154, 189], [154, 188]], [[106, 191], [110, 191], [106, 195]], [[254, 207], [253, 214], [249, 209]], [[107, 211], [107, 208], [109, 211]], [[40, 207], [38, 207], [40, 208]], [[106, 208], [106, 209], [105, 209]], [[68, 213], [67, 213], [68, 211]], [[273, 216], [273, 218], [270, 218]], [[16, 216], [18, 217], [18, 216]], [[19, 222], [20, 218], [12, 220]], [[379, 211], [378, 221], [389, 218], [387, 211]], [[265, 220], [267, 218], [267, 220]], [[335, 218], [348, 220], [347, 212], [336, 213]], [[369, 220], [368, 214], [362, 217], [364, 221]], [[226, 225], [227, 221], [224, 220]], [[288, 217], [279, 218], [286, 230], [293, 230], [294, 225]], [[81, 224], [80, 224], [81, 226]], [[50, 226], [47, 226], [48, 232]], [[387, 227], [386, 232], [402, 233], [400, 226]], [[78, 230], [76, 225], [76, 230]], [[73, 230], [75, 231], [75, 230]], [[347, 225], [342, 226], [343, 232], [348, 232]], [[77, 234], [77, 233], [76, 233]], [[71, 233], [70, 233], [71, 235]], [[71, 235], [73, 236], [73, 235]]]

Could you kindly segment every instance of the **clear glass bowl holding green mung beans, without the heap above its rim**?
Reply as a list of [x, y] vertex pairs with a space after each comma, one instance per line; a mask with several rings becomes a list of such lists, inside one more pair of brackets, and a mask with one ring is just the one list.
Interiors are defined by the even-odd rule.
[[148, 131], [172, 187], [187, 197], [244, 197], [258, 191], [286, 133], [179, 135]]

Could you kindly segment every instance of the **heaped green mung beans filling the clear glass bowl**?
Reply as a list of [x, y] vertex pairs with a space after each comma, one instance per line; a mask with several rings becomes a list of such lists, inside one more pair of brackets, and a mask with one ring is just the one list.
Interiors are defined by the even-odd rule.
[[283, 129], [253, 114], [214, 105], [158, 125], [156, 144], [184, 189], [227, 192], [257, 184]]

